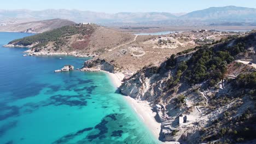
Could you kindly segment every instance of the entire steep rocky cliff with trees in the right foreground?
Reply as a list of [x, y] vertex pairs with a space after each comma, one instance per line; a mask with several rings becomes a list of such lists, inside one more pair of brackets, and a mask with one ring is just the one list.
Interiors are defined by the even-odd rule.
[[256, 69], [237, 62], [255, 57], [256, 33], [172, 55], [126, 80], [120, 92], [147, 100], [160, 111], [162, 141], [255, 142]]

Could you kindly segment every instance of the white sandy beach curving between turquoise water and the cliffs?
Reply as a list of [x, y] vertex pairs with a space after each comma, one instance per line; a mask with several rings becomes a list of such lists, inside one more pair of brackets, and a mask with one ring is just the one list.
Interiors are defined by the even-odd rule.
[[[121, 86], [121, 80], [123, 80], [124, 75], [121, 73], [108, 73], [110, 80], [112, 81], [115, 87]], [[144, 124], [148, 127], [149, 130], [152, 131], [152, 134], [155, 136], [156, 140], [159, 139], [159, 133], [161, 130], [161, 123], [156, 122], [155, 116], [157, 115], [156, 112], [152, 111], [152, 107], [149, 106], [149, 103], [146, 101], [135, 100], [131, 97], [124, 97], [127, 103], [131, 105], [133, 110], [135, 110], [138, 116], [142, 119]]]

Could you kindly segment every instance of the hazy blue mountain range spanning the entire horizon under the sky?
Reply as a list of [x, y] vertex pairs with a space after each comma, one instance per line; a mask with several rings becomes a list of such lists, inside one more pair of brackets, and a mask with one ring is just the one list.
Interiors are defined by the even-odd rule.
[[74, 22], [92, 22], [97, 24], [147, 24], [147, 25], [210, 25], [226, 22], [256, 22], [256, 9], [244, 7], [212, 7], [193, 11], [188, 14], [178, 13], [97, 13], [93, 11], [47, 9], [0, 10], [0, 26], [20, 21], [48, 19], [67, 19]]

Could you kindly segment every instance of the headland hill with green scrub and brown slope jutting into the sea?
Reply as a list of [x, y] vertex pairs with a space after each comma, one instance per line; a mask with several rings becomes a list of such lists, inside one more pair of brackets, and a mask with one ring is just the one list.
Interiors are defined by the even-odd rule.
[[[53, 29], [52, 31], [10, 41], [7, 47], [30, 47], [31, 52], [37, 55], [100, 55], [129, 41], [135, 36], [129, 33], [118, 32], [94, 24], [72, 25]], [[38, 54], [39, 53], [39, 54]], [[34, 53], [33, 53], [34, 54]]]

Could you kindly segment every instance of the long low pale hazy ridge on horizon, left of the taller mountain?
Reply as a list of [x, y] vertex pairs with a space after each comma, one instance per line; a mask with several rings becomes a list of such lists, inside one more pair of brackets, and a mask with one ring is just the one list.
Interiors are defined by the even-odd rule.
[[47, 9], [41, 11], [32, 10], [0, 10], [0, 20], [15, 19], [68, 19], [75, 22], [146, 22], [160, 21], [176, 18], [170, 13], [117, 13], [106, 14], [93, 11], [66, 10], [66, 9]]

